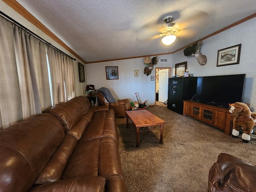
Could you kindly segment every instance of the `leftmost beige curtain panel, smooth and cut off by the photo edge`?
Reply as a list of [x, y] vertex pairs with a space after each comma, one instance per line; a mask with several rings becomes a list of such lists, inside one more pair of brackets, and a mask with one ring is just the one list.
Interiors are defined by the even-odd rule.
[[22, 106], [12, 24], [0, 17], [0, 129], [21, 120]]

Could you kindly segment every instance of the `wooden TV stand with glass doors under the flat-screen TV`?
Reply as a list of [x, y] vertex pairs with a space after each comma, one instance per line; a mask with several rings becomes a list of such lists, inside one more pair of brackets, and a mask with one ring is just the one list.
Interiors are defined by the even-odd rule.
[[226, 108], [184, 100], [183, 115], [193, 117], [211, 126], [224, 130], [226, 135], [232, 134], [233, 119]]

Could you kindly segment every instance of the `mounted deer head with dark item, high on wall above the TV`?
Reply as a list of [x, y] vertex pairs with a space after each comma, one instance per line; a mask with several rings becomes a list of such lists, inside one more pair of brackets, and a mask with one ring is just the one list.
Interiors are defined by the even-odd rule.
[[202, 65], [206, 65], [207, 57], [205, 55], [202, 55], [202, 53], [200, 52], [201, 47], [202, 47], [202, 42], [198, 41], [198, 42], [196, 42], [196, 44], [193, 44], [192, 46], [184, 49], [184, 55], [185, 56], [190, 56], [190, 55], [196, 56], [198, 63], [202, 66]]

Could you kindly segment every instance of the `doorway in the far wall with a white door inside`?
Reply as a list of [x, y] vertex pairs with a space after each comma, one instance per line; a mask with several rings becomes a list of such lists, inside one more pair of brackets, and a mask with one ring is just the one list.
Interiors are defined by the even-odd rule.
[[155, 105], [167, 106], [168, 78], [171, 77], [171, 68], [156, 67]]

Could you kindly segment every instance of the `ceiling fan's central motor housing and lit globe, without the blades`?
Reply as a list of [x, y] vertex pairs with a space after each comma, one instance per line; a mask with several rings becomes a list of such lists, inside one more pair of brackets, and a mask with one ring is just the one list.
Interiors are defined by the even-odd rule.
[[176, 40], [176, 36], [174, 34], [178, 33], [180, 30], [174, 27], [175, 23], [172, 23], [173, 16], [166, 16], [164, 18], [164, 22], [166, 22], [167, 27], [160, 32], [160, 37], [162, 38], [162, 42], [165, 45], [170, 45]]

